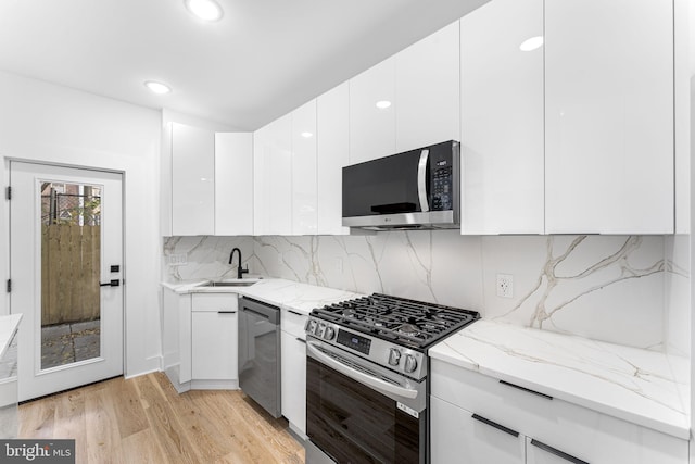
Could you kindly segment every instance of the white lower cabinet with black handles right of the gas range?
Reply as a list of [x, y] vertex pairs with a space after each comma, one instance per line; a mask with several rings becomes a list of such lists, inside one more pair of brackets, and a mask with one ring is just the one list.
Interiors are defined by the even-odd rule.
[[432, 463], [686, 464], [688, 442], [439, 360]]

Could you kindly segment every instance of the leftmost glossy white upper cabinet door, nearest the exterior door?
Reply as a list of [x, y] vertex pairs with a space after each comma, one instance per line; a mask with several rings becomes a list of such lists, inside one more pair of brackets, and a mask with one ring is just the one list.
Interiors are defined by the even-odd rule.
[[172, 234], [215, 234], [215, 136], [172, 123]]

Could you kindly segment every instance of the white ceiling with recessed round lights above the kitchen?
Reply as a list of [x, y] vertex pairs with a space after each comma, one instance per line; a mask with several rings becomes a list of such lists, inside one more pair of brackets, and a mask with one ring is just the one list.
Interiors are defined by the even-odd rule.
[[253, 130], [486, 1], [0, 0], [0, 70]]

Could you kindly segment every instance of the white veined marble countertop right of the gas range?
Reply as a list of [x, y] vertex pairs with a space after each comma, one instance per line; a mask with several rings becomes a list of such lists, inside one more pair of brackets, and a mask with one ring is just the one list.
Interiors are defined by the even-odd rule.
[[685, 358], [481, 319], [429, 350], [477, 371], [687, 440]]

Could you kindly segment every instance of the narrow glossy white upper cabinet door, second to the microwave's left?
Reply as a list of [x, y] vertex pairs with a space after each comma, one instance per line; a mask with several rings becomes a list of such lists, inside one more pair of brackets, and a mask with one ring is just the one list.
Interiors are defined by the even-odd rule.
[[316, 100], [292, 112], [292, 234], [316, 235]]

